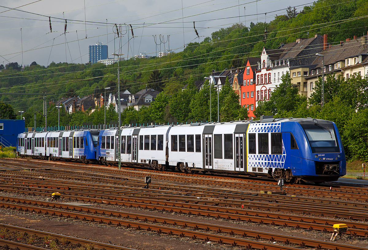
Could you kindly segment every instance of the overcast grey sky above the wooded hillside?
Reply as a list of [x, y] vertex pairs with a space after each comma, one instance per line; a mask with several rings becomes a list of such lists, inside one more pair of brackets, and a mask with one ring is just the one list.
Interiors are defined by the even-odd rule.
[[[227, 28], [238, 22], [248, 27], [250, 22], [256, 23], [257, 20], [269, 22], [276, 14], [285, 14], [285, 8], [288, 6], [298, 5], [296, 8], [300, 11], [304, 5], [311, 5], [312, 2], [2, 0], [0, 64], [18, 62], [29, 65], [33, 61], [45, 66], [52, 61], [86, 63], [88, 46], [95, 45], [98, 40], [109, 46], [109, 57], [113, 57], [112, 53], [118, 53], [120, 47], [120, 53], [124, 53], [124, 57], [144, 52], [155, 56], [156, 51], [158, 53], [165, 48], [179, 52], [185, 44], [201, 42], [220, 28]], [[257, 13], [258, 15], [255, 15]], [[48, 17], [51, 17], [52, 32]], [[65, 35], [63, 19], [67, 19]], [[195, 34], [193, 22], [199, 38]], [[119, 38], [116, 35], [115, 23], [123, 32], [123, 36]], [[127, 31], [127, 25], [132, 25], [134, 38], [130, 26]]]

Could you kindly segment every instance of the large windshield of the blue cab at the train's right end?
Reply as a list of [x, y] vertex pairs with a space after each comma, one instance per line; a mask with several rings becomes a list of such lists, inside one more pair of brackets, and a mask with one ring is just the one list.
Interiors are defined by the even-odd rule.
[[301, 124], [313, 153], [340, 152], [332, 124]]

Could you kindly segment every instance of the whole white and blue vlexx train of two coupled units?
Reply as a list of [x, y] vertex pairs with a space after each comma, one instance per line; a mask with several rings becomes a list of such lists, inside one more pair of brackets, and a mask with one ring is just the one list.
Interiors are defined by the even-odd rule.
[[334, 122], [312, 118], [25, 132], [19, 156], [185, 173], [337, 181], [346, 159]]

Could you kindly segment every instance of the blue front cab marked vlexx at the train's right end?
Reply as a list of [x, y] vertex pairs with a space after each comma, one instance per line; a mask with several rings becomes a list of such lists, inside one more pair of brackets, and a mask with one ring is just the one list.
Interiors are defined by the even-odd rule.
[[290, 131], [283, 137], [290, 142], [287, 160], [293, 176], [302, 181], [324, 182], [336, 181], [346, 174], [345, 153], [335, 123], [302, 119], [284, 123], [283, 131]]

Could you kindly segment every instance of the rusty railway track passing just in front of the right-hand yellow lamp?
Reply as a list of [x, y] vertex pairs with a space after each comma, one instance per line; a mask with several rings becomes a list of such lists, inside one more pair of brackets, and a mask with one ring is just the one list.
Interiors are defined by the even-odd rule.
[[[335, 242], [325, 242], [321, 240], [311, 240], [293, 236], [277, 235], [275, 233], [266, 233], [254, 230], [247, 230], [236, 227], [225, 227], [201, 222], [192, 222], [188, 220], [178, 220], [163, 218], [158, 216], [149, 216], [138, 213], [128, 213], [116, 210], [96, 209], [85, 206], [75, 206], [72, 204], [60, 204], [43, 202], [42, 206], [35, 201], [28, 199], [13, 199], [14, 203], [0, 202], [0, 206], [6, 209], [16, 209], [26, 213], [46, 214], [57, 217], [73, 218], [74, 220], [92, 221], [105, 223], [108, 225], [117, 225], [118, 227], [135, 228], [138, 230], [155, 231], [157, 233], [175, 234], [182, 237], [200, 238], [203, 240], [216, 241], [218, 243], [227, 243], [236, 246], [245, 246], [249, 248], [261, 249], [295, 249], [294, 247], [284, 246], [284, 244], [296, 244], [298, 246], [307, 246], [323, 249], [339, 250], [362, 250], [366, 249], [357, 246], [347, 246]], [[25, 203], [27, 205], [24, 205]], [[31, 203], [31, 204], [30, 204]], [[31, 206], [32, 205], [32, 206]], [[55, 207], [48, 208], [48, 207]], [[78, 212], [75, 212], [78, 211]], [[107, 217], [106, 217], [107, 215]], [[125, 219], [125, 220], [124, 220]], [[142, 222], [140, 222], [142, 221]], [[147, 223], [151, 222], [151, 223]], [[170, 227], [168, 226], [170, 225]], [[217, 234], [221, 235], [217, 235]], [[229, 236], [223, 235], [227, 234]], [[242, 238], [239, 238], [242, 237]], [[244, 239], [253, 238], [252, 240]], [[276, 241], [278, 244], [269, 244], [258, 242], [257, 240]]]

